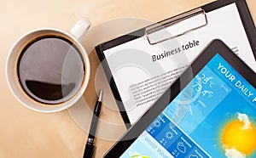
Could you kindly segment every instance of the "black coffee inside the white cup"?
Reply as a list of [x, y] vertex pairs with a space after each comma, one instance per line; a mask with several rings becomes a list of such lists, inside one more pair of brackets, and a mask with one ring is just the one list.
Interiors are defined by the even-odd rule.
[[28, 43], [20, 54], [18, 76], [21, 87], [44, 104], [71, 99], [84, 81], [84, 59], [72, 41], [47, 35]]

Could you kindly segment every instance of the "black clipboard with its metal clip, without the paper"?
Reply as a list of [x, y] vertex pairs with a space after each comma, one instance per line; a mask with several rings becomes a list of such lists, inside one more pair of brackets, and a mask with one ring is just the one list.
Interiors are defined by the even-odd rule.
[[[102, 68], [105, 71], [105, 74], [109, 81], [109, 85], [113, 91], [113, 96], [116, 99], [116, 103], [118, 105], [120, 115], [122, 116], [123, 121], [125, 122], [125, 126], [127, 128], [131, 127], [131, 119], [129, 119], [129, 116], [127, 115], [127, 112], [125, 110], [125, 105], [123, 103], [123, 100], [121, 99], [121, 96], [119, 93], [119, 87], [116, 83], [116, 78], [113, 77], [113, 71], [111, 71], [109, 66], [111, 63], [109, 63], [108, 58], [106, 58], [105, 51], [111, 48], [118, 47], [127, 42], [132, 42], [134, 40], [137, 40], [140, 37], [146, 37], [149, 45], [155, 45], [155, 44], [159, 44], [160, 42], [166, 42], [173, 38], [186, 36], [193, 31], [199, 32], [201, 31], [202, 28], [206, 27], [209, 23], [207, 13], [215, 11], [218, 8], [227, 7], [231, 4], [236, 4], [236, 8], [238, 10], [238, 13], [241, 19], [241, 24], [246, 33], [247, 40], [250, 45], [250, 48], [252, 49], [253, 57], [255, 61], [256, 30], [255, 30], [255, 25], [253, 23], [253, 18], [249, 12], [249, 9], [247, 7], [247, 3], [245, 0], [218, 0], [216, 2], [204, 5], [200, 8], [195, 8], [193, 10], [190, 10], [189, 12], [186, 12], [184, 14], [178, 14], [175, 17], [162, 20], [158, 23], [155, 23], [154, 25], [148, 25], [147, 27], [144, 27], [140, 30], [133, 31], [129, 34], [126, 34], [121, 37], [117, 37], [109, 42], [104, 42], [96, 46], [96, 54], [98, 55], [98, 58], [102, 62]], [[195, 22], [196, 25], [191, 25], [191, 26], [189, 25], [187, 29], [183, 28], [183, 31], [176, 32], [169, 37], [166, 35], [159, 36], [159, 37], [154, 36], [155, 32], [159, 32], [165, 28], [170, 28], [175, 25], [181, 25], [183, 23], [186, 23], [186, 21], [191, 20], [192, 18], [195, 19], [195, 17], [196, 19], [200, 19], [200, 22]], [[238, 51], [236, 47], [232, 48], [232, 50], [235, 53]]]

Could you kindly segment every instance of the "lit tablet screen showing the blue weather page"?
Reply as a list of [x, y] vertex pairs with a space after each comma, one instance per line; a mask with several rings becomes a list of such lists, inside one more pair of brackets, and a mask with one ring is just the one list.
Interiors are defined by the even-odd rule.
[[215, 56], [121, 157], [256, 157], [256, 91]]

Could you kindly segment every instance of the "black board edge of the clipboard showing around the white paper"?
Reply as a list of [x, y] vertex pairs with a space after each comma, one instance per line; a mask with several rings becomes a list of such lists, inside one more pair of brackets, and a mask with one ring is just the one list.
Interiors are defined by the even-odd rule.
[[[253, 23], [252, 15], [249, 12], [249, 9], [247, 7], [247, 3], [245, 0], [218, 0], [216, 2], [208, 3], [207, 5], [204, 5], [201, 8], [204, 9], [206, 12], [211, 12], [214, 9], [222, 8], [231, 3], [236, 3], [236, 7], [237, 7], [240, 17], [241, 17], [241, 22], [245, 28], [247, 38], [248, 38], [251, 48], [253, 50], [254, 59], [256, 59], [256, 29], [255, 29], [255, 25]], [[139, 37], [143, 37], [144, 34], [145, 34], [145, 28], [142, 28], [138, 31], [133, 31], [127, 35], [115, 38], [109, 42], [104, 42], [104, 43], [96, 46], [96, 53], [98, 55], [98, 58], [102, 62], [102, 68], [105, 71], [105, 74], [108, 78], [109, 85], [112, 89], [114, 99], [117, 100], [116, 103], [119, 107], [120, 115], [122, 116], [127, 129], [129, 127], [131, 127], [131, 122], [130, 122], [129, 117], [127, 116], [125, 106], [124, 106], [122, 99], [120, 97], [120, 94], [119, 94], [119, 90], [114, 82], [113, 75], [112, 75], [112, 72], [110, 71], [108, 61], [106, 60], [104, 51], [109, 48], [116, 47], [125, 42], [130, 42]]]

